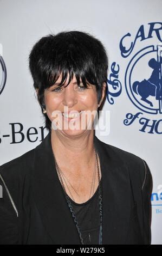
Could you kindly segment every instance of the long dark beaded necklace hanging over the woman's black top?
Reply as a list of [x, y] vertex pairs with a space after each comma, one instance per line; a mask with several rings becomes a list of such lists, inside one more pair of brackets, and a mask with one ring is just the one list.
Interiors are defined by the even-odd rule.
[[[100, 209], [100, 233], [99, 233], [99, 245], [102, 245], [102, 196], [101, 196], [101, 186], [100, 186], [100, 172], [99, 172], [99, 163], [98, 163], [98, 156], [97, 156], [97, 153], [96, 153], [96, 149], [94, 147], [94, 150], [95, 150], [95, 166], [96, 166], [96, 163], [97, 163], [97, 167], [98, 167], [98, 181], [99, 181], [99, 209]], [[59, 179], [60, 179], [60, 182], [61, 182], [61, 185], [62, 185], [62, 188], [63, 188], [63, 191], [65, 193], [65, 197], [66, 197], [66, 200], [67, 200], [67, 204], [68, 204], [68, 207], [69, 207], [69, 210], [72, 214], [72, 217], [74, 219], [74, 223], [76, 225], [76, 229], [78, 231], [78, 234], [79, 234], [79, 237], [80, 237], [80, 240], [81, 240], [81, 244], [84, 245], [84, 242], [83, 242], [83, 239], [82, 239], [82, 234], [81, 234], [81, 231], [80, 231], [80, 228], [79, 228], [79, 225], [78, 225], [78, 222], [76, 220], [76, 216], [74, 214], [74, 211], [73, 211], [73, 207], [71, 205], [71, 202], [70, 202], [70, 198], [68, 197], [68, 194], [66, 193], [66, 189], [64, 187], [64, 184], [63, 184], [63, 181], [62, 181], [62, 176], [61, 176], [61, 169], [59, 168], [57, 162], [56, 162], [56, 159], [55, 159], [55, 156], [54, 156], [54, 160], [55, 160], [55, 166], [56, 166], [56, 171], [57, 171], [57, 174], [59, 176]], [[96, 169], [96, 168], [95, 168]], [[92, 190], [92, 188], [91, 188]], [[76, 191], [75, 191], [76, 192]], [[91, 191], [90, 191], [91, 192]], [[77, 192], [76, 192], [77, 193]], [[71, 194], [71, 193], [70, 193]]]

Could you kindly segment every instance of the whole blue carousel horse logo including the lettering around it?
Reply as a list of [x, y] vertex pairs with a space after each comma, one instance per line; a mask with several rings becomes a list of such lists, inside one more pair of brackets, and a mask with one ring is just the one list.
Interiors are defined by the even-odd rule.
[[[147, 31], [147, 33], [146, 33]], [[147, 27], [141, 25], [132, 40], [131, 33], [124, 35], [119, 44], [121, 57], [127, 59], [125, 77], [126, 94], [137, 113], [126, 113], [124, 125], [132, 125], [138, 121], [141, 125], [139, 131], [162, 134], [162, 23], [148, 23]], [[154, 38], [157, 42], [150, 45], [149, 40]], [[146, 42], [145, 47], [140, 47]], [[136, 46], [136, 47], [135, 47]], [[136, 48], [139, 50], [135, 51]], [[107, 80], [107, 100], [113, 104], [113, 97], [121, 94], [122, 84], [119, 81], [119, 64], [113, 62], [111, 75]], [[152, 118], [153, 116], [153, 118]]]

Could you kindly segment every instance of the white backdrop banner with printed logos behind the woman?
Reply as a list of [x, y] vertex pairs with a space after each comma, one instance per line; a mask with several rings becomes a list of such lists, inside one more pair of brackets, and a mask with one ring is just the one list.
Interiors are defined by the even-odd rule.
[[[102, 108], [109, 127], [96, 136], [147, 162], [152, 245], [162, 244], [161, 7], [161, 0], [0, 0], [0, 165], [48, 133], [28, 68], [35, 42], [61, 31], [96, 36], [109, 58]], [[104, 118], [99, 122], [104, 127]]]

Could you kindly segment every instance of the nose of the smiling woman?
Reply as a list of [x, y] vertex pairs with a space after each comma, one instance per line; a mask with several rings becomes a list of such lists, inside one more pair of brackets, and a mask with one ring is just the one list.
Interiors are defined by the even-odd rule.
[[77, 103], [77, 97], [74, 87], [70, 84], [64, 88], [62, 103], [64, 106], [67, 106], [69, 108], [73, 107]]

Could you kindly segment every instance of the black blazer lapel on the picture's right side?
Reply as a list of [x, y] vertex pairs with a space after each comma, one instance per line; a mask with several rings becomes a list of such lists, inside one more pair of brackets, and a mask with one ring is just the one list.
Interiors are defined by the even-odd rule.
[[113, 147], [94, 139], [102, 173], [102, 243], [124, 244], [129, 224], [131, 188], [126, 164]]

